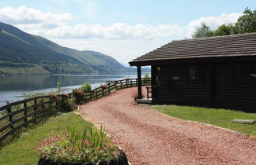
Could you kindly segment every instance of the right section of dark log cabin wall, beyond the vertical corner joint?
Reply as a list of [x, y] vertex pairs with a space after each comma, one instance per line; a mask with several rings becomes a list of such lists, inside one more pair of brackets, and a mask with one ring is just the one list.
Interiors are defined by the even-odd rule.
[[[256, 71], [256, 63], [251, 64]], [[235, 80], [235, 63], [216, 64], [216, 105], [223, 108], [234, 108], [256, 112], [256, 79], [250, 76], [248, 81]]]

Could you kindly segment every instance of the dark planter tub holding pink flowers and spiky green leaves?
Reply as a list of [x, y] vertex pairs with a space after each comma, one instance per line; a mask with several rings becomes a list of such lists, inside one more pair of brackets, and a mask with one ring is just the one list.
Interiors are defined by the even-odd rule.
[[120, 151], [119, 156], [115, 156], [115, 158], [111, 159], [108, 162], [98, 162], [98, 163], [63, 163], [63, 162], [55, 162], [49, 159], [40, 159], [38, 161], [38, 165], [129, 165], [128, 159], [126, 157], [125, 152]]

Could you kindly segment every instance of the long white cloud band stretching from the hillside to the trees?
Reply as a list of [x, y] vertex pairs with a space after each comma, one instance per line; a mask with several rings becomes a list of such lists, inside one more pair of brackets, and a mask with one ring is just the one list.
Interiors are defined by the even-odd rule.
[[39, 29], [37, 35], [43, 35], [49, 38], [107, 38], [107, 39], [156, 39], [156, 38], [190, 38], [196, 27], [201, 22], [216, 29], [221, 24], [234, 23], [240, 13], [221, 14], [220, 16], [202, 17], [198, 20], [190, 21], [186, 26], [177, 24], [160, 24], [145, 25], [136, 24], [128, 25], [123, 23], [115, 23], [110, 26], [102, 26], [100, 24], [76, 24], [74, 26], [59, 26], [53, 28]]

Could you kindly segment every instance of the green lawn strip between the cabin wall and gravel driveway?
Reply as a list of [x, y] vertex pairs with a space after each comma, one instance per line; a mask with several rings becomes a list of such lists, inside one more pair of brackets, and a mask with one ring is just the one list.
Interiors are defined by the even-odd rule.
[[256, 119], [255, 113], [246, 113], [220, 108], [198, 108], [178, 105], [153, 105], [152, 108], [179, 119], [209, 123], [256, 137], [256, 123], [233, 123], [233, 119]]

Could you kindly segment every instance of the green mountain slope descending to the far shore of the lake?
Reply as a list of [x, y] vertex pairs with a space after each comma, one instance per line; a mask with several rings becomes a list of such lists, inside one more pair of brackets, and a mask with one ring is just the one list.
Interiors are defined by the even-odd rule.
[[103, 53], [59, 46], [0, 22], [0, 75], [134, 71]]

